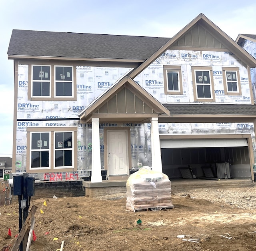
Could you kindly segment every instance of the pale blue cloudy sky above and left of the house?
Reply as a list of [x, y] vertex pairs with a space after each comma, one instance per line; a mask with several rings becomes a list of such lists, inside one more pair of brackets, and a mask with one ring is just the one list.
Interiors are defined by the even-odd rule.
[[12, 157], [13, 29], [172, 38], [200, 13], [233, 40], [256, 34], [254, 1], [0, 0], [0, 157]]

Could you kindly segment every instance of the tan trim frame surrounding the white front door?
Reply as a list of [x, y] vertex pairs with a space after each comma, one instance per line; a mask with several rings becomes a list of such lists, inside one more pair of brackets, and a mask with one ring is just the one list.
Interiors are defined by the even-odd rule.
[[[126, 147], [128, 150], [127, 153], [127, 176], [130, 175], [130, 169], [132, 168], [132, 151], [131, 151], [131, 133], [130, 133], [130, 127], [105, 127], [104, 128], [104, 169], [107, 170], [107, 176], [109, 177], [109, 169], [108, 169], [108, 131], [117, 131], [122, 130], [126, 131]], [[111, 177], [120, 177], [120, 175], [111, 175]], [[125, 175], [123, 175], [125, 176]]]

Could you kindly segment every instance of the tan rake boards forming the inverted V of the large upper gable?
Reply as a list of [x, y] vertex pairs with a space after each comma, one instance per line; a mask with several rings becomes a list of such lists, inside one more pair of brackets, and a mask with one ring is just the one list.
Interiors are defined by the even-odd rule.
[[[223, 44], [225, 48], [230, 50], [230, 52], [234, 53], [240, 60], [242, 60], [246, 65], [250, 66], [250, 68], [256, 67], [256, 60], [253, 58], [246, 50], [241, 48], [232, 38], [230, 38], [226, 33], [224, 33], [218, 26], [216, 26], [212, 21], [210, 21], [204, 14], [199, 14], [194, 20], [192, 20], [189, 24], [187, 24], [180, 32], [178, 32], [175, 36], [173, 36], [164, 46], [162, 46], [157, 52], [155, 52], [150, 58], [148, 58], [144, 63], [142, 63], [139, 67], [134, 69], [129, 76], [131, 78], [136, 77], [140, 72], [142, 72], [148, 65], [150, 65], [154, 60], [156, 60], [163, 52], [170, 48], [174, 48], [174, 45], [180, 38], [185, 36], [191, 29], [194, 28], [196, 24], [200, 24], [200, 26], [204, 27], [213, 37], [218, 38], [218, 40]], [[175, 48], [179, 48], [175, 46]], [[207, 47], [206, 47], [207, 48]]]

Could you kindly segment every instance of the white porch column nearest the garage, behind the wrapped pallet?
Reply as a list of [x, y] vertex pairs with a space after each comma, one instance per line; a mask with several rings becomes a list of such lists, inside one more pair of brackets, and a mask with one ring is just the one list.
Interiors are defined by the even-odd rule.
[[151, 118], [151, 158], [152, 158], [152, 170], [163, 172], [160, 139], [158, 131], [158, 118]]

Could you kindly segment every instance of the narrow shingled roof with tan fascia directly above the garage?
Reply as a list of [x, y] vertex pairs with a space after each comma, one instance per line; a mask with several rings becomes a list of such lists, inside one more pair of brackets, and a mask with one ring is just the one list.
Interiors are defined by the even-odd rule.
[[[238, 104], [163, 104], [170, 111], [170, 122], [177, 118], [213, 119], [216, 122], [254, 122], [256, 105]], [[214, 116], [215, 115], [215, 116]], [[209, 118], [208, 118], [209, 116]], [[160, 118], [162, 117], [163, 120]], [[159, 122], [169, 122], [165, 115], [159, 117]], [[177, 121], [176, 121], [177, 122]]]

